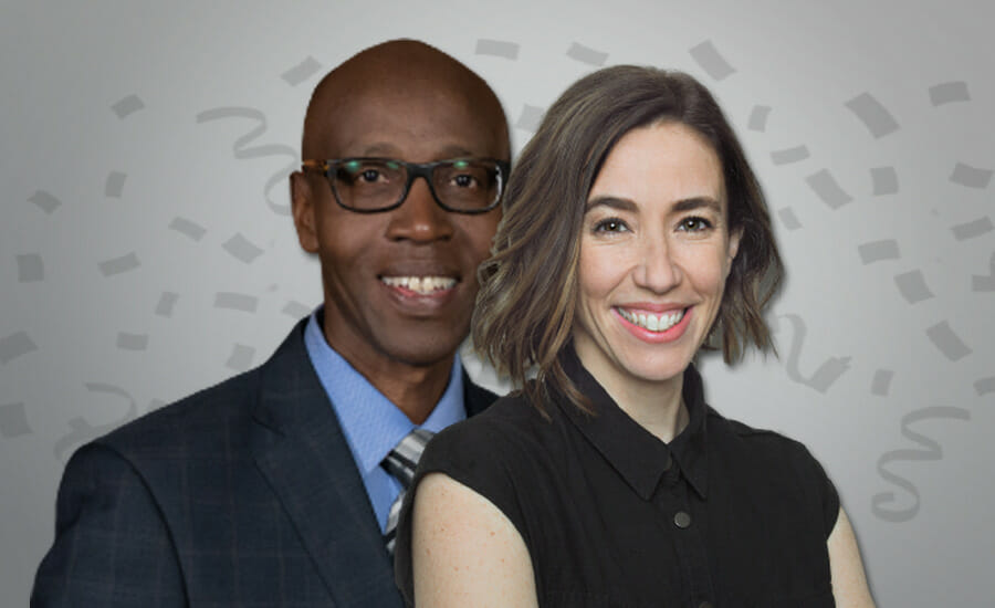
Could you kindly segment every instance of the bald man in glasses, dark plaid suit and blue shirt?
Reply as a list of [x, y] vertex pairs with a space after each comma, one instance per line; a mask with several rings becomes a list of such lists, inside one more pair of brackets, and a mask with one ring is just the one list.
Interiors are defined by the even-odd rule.
[[261, 367], [74, 454], [32, 606], [401, 606], [383, 463], [494, 398], [455, 350], [507, 123], [464, 65], [391, 41], [317, 85], [303, 158], [293, 217], [324, 306]]

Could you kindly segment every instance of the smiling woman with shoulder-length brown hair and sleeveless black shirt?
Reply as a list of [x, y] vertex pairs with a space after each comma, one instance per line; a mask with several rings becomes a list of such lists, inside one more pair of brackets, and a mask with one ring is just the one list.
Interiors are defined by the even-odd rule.
[[647, 67], [582, 78], [504, 213], [473, 339], [524, 389], [429, 444], [399, 528], [408, 601], [872, 606], [819, 464], [704, 402], [699, 349], [771, 348], [783, 274], [709, 92]]

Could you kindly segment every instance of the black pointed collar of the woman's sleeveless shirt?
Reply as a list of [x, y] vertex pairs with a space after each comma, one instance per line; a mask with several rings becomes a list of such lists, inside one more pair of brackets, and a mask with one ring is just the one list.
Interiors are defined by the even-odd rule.
[[704, 499], [708, 493], [705, 418], [708, 405], [701, 375], [693, 364], [684, 370], [682, 396], [689, 422], [670, 443], [660, 441], [632, 420], [584, 368], [573, 346], [561, 356], [564, 371], [590, 399], [595, 415], [587, 415], [566, 399], [557, 405], [578, 430], [642, 499], [650, 500], [660, 479], [675, 463], [688, 483]]

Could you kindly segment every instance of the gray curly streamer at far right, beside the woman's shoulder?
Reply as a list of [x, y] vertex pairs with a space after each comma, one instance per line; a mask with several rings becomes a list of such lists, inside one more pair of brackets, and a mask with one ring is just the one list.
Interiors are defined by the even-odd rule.
[[878, 459], [878, 473], [881, 478], [901, 488], [911, 494], [913, 499], [911, 506], [886, 509], [887, 505], [897, 502], [894, 492], [879, 492], [874, 494], [871, 500], [871, 511], [886, 522], [908, 522], [919, 513], [920, 505], [919, 489], [915, 488], [915, 484], [901, 475], [892, 473], [886, 469], [886, 465], [891, 462], [918, 462], [941, 460], [943, 458], [943, 447], [939, 442], [909, 428], [914, 422], [929, 419], [971, 420], [971, 412], [963, 408], [934, 406], [909, 412], [902, 417], [902, 434], [924, 449], [892, 450], [881, 454], [881, 458]]

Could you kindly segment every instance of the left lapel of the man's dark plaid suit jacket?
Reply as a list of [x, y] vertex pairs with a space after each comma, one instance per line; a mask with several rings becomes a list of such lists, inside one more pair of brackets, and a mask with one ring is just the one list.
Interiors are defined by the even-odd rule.
[[366, 489], [312, 367], [304, 322], [265, 364], [251, 430], [263, 476], [338, 606], [402, 606]]

